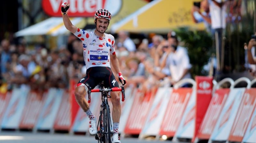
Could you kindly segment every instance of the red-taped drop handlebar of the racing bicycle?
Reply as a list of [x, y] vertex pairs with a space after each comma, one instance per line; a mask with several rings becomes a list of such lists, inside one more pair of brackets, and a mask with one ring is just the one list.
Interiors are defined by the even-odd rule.
[[122, 101], [125, 101], [124, 86], [121, 88], [91, 89], [88, 91], [88, 103], [91, 103], [91, 92], [122, 92]]

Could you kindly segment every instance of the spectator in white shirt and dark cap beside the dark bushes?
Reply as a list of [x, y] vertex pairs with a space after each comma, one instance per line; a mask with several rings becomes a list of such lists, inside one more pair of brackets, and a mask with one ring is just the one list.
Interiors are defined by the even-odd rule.
[[[187, 49], [179, 46], [176, 33], [172, 31], [169, 35], [169, 46], [171, 46], [173, 52], [168, 55], [166, 65], [170, 68], [170, 83], [174, 85], [181, 79], [191, 78], [189, 72], [191, 64], [189, 63]], [[188, 85], [184, 84], [183, 87], [188, 87]]]

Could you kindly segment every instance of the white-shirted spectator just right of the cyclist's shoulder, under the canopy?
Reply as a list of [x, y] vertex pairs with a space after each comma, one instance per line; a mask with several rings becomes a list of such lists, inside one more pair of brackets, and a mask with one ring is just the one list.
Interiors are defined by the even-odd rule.
[[118, 47], [125, 47], [129, 52], [135, 52], [136, 45], [129, 37], [129, 33], [126, 31], [118, 32]]

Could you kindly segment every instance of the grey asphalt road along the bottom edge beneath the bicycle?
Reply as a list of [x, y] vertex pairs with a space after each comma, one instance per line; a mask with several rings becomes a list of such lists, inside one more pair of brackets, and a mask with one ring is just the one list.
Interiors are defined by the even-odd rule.
[[[97, 143], [97, 140], [90, 135], [0, 131], [0, 143]], [[121, 138], [121, 143], [172, 143], [172, 141]]]

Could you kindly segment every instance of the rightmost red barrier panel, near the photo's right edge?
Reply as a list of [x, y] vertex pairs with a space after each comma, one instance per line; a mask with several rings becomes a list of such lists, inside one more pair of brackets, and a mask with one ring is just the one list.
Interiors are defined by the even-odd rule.
[[256, 105], [255, 93], [255, 88], [245, 90], [245, 94], [242, 98], [237, 116], [235, 117], [235, 121], [228, 138], [229, 141], [241, 142], [243, 140], [243, 136], [245, 135], [245, 131]]

